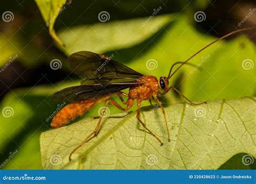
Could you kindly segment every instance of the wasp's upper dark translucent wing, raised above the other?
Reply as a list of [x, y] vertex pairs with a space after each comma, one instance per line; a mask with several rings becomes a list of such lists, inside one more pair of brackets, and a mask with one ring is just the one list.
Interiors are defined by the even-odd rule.
[[84, 79], [81, 84], [133, 82], [143, 74], [112, 60], [112, 57], [82, 51], [69, 56], [73, 72]]

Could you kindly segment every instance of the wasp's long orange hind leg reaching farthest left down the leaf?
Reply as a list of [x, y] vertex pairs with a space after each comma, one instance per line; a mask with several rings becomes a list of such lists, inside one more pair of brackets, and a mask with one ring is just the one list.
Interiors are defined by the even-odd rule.
[[107, 100], [105, 101], [105, 104], [104, 104], [104, 107], [103, 107], [103, 109], [102, 109], [102, 112], [100, 113], [99, 122], [98, 122], [98, 124], [97, 124], [95, 130], [93, 130], [93, 132], [91, 132], [90, 135], [87, 136], [87, 137], [82, 141], [82, 143], [81, 143], [80, 145], [78, 145], [75, 149], [73, 149], [73, 151], [69, 154], [69, 160], [71, 160], [72, 154], [75, 153], [75, 151], [77, 151], [79, 147], [82, 147], [93, 135], [97, 135], [97, 133], [98, 133], [98, 131], [99, 131], [99, 128], [100, 128], [100, 124], [102, 123], [102, 118], [103, 118], [104, 113], [105, 113], [105, 110], [106, 110], [106, 105], [107, 105], [108, 103], [111, 103], [112, 105], [114, 105], [115, 107], [117, 107], [117, 108], [120, 109], [120, 110], [126, 111], [126, 110], [128, 110], [128, 109], [130, 109], [130, 108], [132, 107], [132, 105], [133, 105], [133, 99], [128, 98], [128, 100], [127, 100], [127, 102], [126, 102], [126, 103], [127, 103], [126, 108], [121, 107], [118, 103], [114, 102], [114, 101], [111, 100], [111, 99], [107, 99]]

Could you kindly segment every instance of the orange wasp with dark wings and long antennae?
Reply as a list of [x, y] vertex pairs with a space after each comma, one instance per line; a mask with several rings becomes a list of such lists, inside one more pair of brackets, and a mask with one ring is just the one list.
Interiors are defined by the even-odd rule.
[[[163, 105], [159, 101], [158, 97], [165, 95], [170, 89], [177, 91], [179, 95], [185, 98], [192, 105], [199, 105], [202, 103], [193, 103], [187, 97], [180, 93], [178, 89], [174, 86], [169, 86], [169, 80], [171, 77], [189, 60], [191, 60], [198, 53], [203, 51], [205, 48], [211, 46], [219, 40], [222, 40], [234, 33], [238, 33], [245, 30], [250, 30], [255, 28], [247, 27], [244, 29], [236, 30], [231, 33], [226, 34], [223, 37], [218, 38], [212, 43], [201, 48], [198, 52], [190, 56], [184, 62], [176, 62], [170, 68], [170, 72], [167, 77], [161, 76], [159, 80], [155, 76], [143, 75], [135, 70], [122, 65], [121, 63], [112, 60], [111, 57], [104, 55], [82, 51], [73, 53], [69, 56], [68, 61], [72, 71], [74, 71], [79, 77], [84, 79], [80, 86], [73, 86], [69, 88], [62, 89], [57, 93], [53, 94], [52, 98], [56, 101], [71, 101], [70, 104], [62, 108], [53, 117], [51, 126], [52, 128], [59, 128], [73, 121], [78, 116], [82, 116], [87, 110], [93, 108], [97, 103], [105, 101], [104, 107], [99, 117], [98, 124], [93, 132], [87, 136], [79, 146], [77, 146], [69, 155], [69, 160], [71, 160], [72, 154], [81, 146], [83, 146], [86, 141], [88, 141], [92, 136], [96, 136], [100, 125], [102, 123], [103, 116], [105, 114], [105, 109], [107, 104], [111, 103], [120, 110], [129, 110], [134, 100], [137, 100], [137, 119], [140, 124], [154, 137], [156, 138], [160, 145], [163, 142], [149, 129], [147, 129], [145, 123], [140, 119], [140, 104], [144, 100], [154, 100], [160, 105], [161, 110], [164, 114], [164, 122], [167, 130], [167, 136], [170, 141], [169, 129], [167, 126], [165, 110]], [[176, 70], [172, 73], [172, 69], [175, 65], [180, 64]], [[187, 63], [188, 64], [188, 63]], [[190, 64], [191, 65], [191, 64]], [[129, 88], [129, 93], [125, 94], [122, 90]], [[113, 95], [117, 95], [121, 102], [126, 105], [123, 108], [117, 102], [111, 100]], [[127, 97], [127, 101], [123, 99], [123, 96]]]

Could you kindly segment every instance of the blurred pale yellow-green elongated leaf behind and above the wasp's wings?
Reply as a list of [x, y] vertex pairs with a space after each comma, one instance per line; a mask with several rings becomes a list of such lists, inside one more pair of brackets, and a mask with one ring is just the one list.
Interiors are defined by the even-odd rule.
[[[109, 16], [109, 15], [106, 15]], [[170, 22], [173, 15], [116, 20], [93, 25], [75, 26], [60, 32], [65, 40], [63, 51], [70, 55], [78, 51], [104, 53], [113, 49], [124, 49], [142, 43]]]

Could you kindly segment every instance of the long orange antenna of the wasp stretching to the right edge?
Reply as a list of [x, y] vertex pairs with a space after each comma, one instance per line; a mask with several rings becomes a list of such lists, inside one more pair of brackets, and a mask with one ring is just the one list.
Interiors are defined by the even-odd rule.
[[233, 31], [231, 33], [228, 33], [226, 35], [224, 35], [223, 37], [220, 37], [218, 38], [217, 40], [213, 41], [212, 43], [206, 45], [205, 47], [201, 48], [198, 52], [194, 53], [192, 56], [190, 56], [190, 58], [188, 58], [187, 60], [185, 60], [183, 63], [180, 64], [180, 66], [171, 74], [171, 69], [170, 69], [170, 72], [169, 72], [169, 75], [167, 77], [167, 79], [169, 80], [183, 65], [185, 65], [185, 63], [187, 63], [189, 60], [191, 60], [192, 58], [194, 58], [194, 56], [196, 56], [197, 54], [199, 54], [201, 51], [204, 51], [204, 49], [206, 49], [207, 47], [211, 46], [212, 44], [216, 43], [217, 41], [219, 40], [222, 40], [226, 37], [229, 37], [231, 36], [232, 34], [235, 34], [235, 33], [238, 33], [238, 32], [242, 32], [242, 31], [246, 31], [246, 30], [251, 30], [251, 29], [254, 29], [256, 28], [256, 26], [252, 26], [252, 27], [246, 27], [246, 28], [243, 28], [243, 29], [240, 29], [240, 30], [236, 30], [236, 31]]

